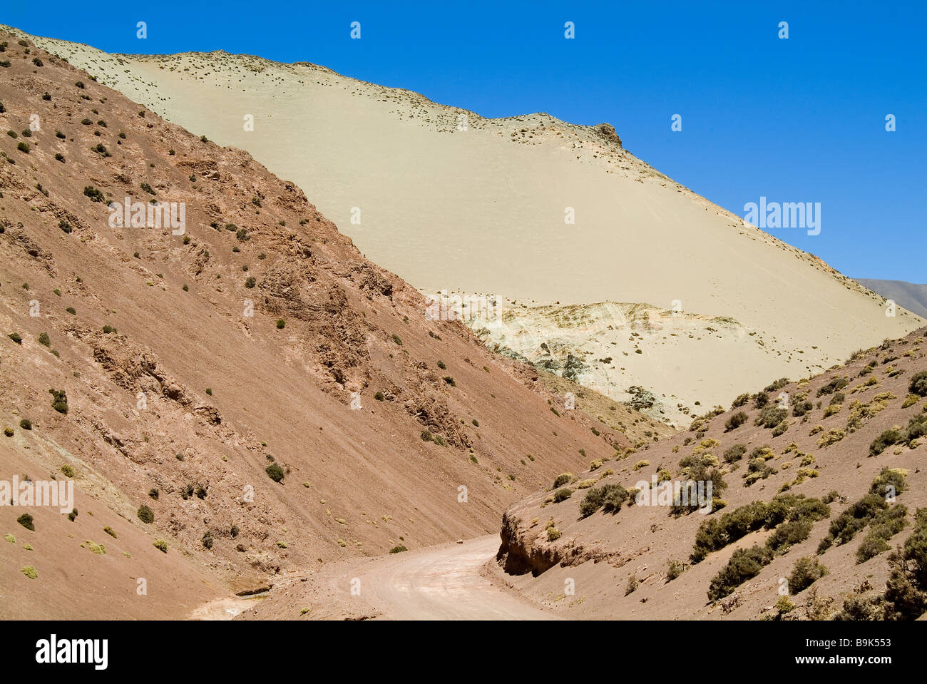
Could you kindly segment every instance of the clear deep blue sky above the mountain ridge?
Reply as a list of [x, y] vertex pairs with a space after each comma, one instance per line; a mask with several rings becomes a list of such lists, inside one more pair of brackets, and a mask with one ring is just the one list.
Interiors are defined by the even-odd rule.
[[487, 117], [609, 121], [635, 155], [742, 216], [760, 196], [820, 202], [819, 235], [770, 232], [844, 273], [927, 282], [923, 0], [6, 2], [0, 22], [108, 52], [309, 61]]

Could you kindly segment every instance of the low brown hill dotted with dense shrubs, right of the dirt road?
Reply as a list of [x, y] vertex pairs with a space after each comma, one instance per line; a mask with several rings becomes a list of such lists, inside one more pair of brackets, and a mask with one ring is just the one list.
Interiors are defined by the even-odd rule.
[[[922, 614], [924, 345], [923, 330], [886, 341], [558, 476], [505, 513], [496, 579], [569, 617]], [[671, 488], [689, 480], [712, 481], [713, 496], [674, 509]], [[693, 510], [703, 502], [710, 512]]]

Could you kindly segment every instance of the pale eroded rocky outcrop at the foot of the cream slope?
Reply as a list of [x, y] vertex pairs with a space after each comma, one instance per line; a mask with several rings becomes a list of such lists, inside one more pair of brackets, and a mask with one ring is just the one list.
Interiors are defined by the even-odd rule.
[[[730, 318], [649, 304], [502, 301], [464, 322], [489, 348], [673, 426], [730, 403], [741, 386], [765, 383], [783, 366], [808, 374], [812, 366], [831, 365], [818, 350], [785, 348]], [[718, 367], [722, 361], [743, 369], [738, 382]]]

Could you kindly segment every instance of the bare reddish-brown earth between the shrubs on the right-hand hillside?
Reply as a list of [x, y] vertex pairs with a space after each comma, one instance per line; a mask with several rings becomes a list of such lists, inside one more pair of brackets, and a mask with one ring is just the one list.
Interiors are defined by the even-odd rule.
[[[687, 432], [642, 450], [618, 454], [594, 471], [578, 473], [564, 485], [573, 490], [566, 500], [553, 502], [554, 488], [548, 483], [544, 491], [506, 511], [498, 563], [492, 564], [495, 581], [521, 590], [539, 606], [561, 616], [770, 618], [779, 614], [773, 606], [781, 595], [781, 578], [792, 574], [799, 557], [809, 556], [817, 558], [830, 574], [789, 597], [795, 608], [784, 615], [786, 619], [832, 618], [842, 610], [847, 598], [870, 600], [883, 594], [890, 571], [889, 551], [857, 564], [857, 550], [870, 527], [847, 543], [834, 544], [820, 555], [816, 551], [831, 521], [866, 495], [884, 468], [907, 472], [908, 486], [896, 501], [907, 507], [907, 525], [888, 540], [889, 547], [896, 549], [912, 535], [914, 513], [927, 506], [925, 437], [870, 455], [870, 445], [883, 431], [903, 428], [912, 417], [927, 412], [927, 398], [909, 394], [912, 376], [927, 370], [925, 337], [927, 332], [921, 329], [862, 352], [845, 366], [771, 389], [770, 404], [775, 405], [781, 393], [790, 402], [788, 428], [778, 437], [771, 429], [755, 424], [760, 411], [755, 399], [750, 399], [743, 406], [696, 420]], [[844, 378], [846, 386], [832, 393], [820, 391], [835, 378]], [[834, 400], [838, 394], [842, 401]], [[797, 415], [795, 405], [803, 400], [810, 401], [812, 408]], [[835, 406], [839, 404], [839, 409], [831, 408], [831, 414], [825, 415], [832, 401]], [[727, 430], [730, 416], [742, 411], [747, 421]], [[832, 444], [822, 439], [828, 435], [832, 436]], [[740, 460], [726, 462], [725, 451], [736, 444], [745, 446], [746, 453]], [[764, 446], [770, 450], [766, 464], [776, 472], [747, 486], [744, 475], [750, 453]], [[715, 493], [723, 500], [723, 508], [716, 506], [708, 514], [674, 516], [665, 505], [626, 503], [616, 513], [604, 513], [602, 508], [587, 517], [580, 513], [579, 504], [590, 488], [608, 484], [632, 488], [640, 480], [651, 481], [661, 470], [672, 479], [684, 479], [680, 460], [692, 456], [714, 456], [717, 460], [728, 485]], [[806, 470], [800, 476], [802, 468]], [[586, 483], [580, 487], [583, 480]], [[811, 498], [836, 490], [839, 497], [830, 504], [830, 516], [814, 523], [806, 540], [777, 554], [757, 576], [743, 582], [729, 596], [709, 602], [709, 584], [733, 551], [762, 546], [772, 533], [768, 529], [751, 532], [692, 564], [690, 554], [697, 529], [705, 520], [717, 519], [752, 501], [768, 502], [785, 487], [788, 493]], [[560, 533], [553, 540], [547, 533], [551, 523]], [[670, 579], [667, 571], [672, 561], [685, 569]], [[626, 593], [631, 576], [639, 584]]]

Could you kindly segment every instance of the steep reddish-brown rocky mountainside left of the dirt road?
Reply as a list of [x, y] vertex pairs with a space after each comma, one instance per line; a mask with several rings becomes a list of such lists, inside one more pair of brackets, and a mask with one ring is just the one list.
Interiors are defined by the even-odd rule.
[[495, 531], [629, 446], [606, 419], [666, 434], [589, 390], [567, 410], [296, 184], [0, 41], [0, 489], [75, 483], [70, 515], [0, 507], [0, 616], [200, 614]]

